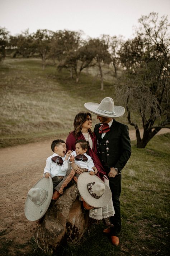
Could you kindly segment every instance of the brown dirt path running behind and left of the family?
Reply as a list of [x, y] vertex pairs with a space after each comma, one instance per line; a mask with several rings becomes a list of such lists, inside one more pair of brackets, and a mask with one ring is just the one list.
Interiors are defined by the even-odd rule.
[[[167, 132], [170, 129], [161, 129], [158, 134]], [[129, 134], [131, 140], [136, 139], [134, 130]], [[42, 178], [50, 146], [51, 140], [47, 140], [0, 149], [0, 231], [6, 242], [27, 243], [37, 229], [37, 223], [26, 219], [24, 204], [28, 190]]]

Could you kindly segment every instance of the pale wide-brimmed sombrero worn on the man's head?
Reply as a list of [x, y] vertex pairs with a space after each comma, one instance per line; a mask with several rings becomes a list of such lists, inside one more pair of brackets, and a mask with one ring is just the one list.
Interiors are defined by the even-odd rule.
[[123, 116], [125, 112], [124, 107], [114, 106], [113, 99], [110, 97], [106, 97], [101, 100], [100, 104], [87, 102], [84, 106], [91, 113], [102, 117], [117, 118]]

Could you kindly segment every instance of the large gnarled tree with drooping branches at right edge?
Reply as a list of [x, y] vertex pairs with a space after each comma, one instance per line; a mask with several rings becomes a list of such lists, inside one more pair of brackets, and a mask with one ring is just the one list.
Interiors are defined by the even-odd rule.
[[150, 13], [139, 23], [136, 37], [121, 49], [126, 71], [118, 95], [126, 102], [129, 124], [136, 129], [137, 147], [145, 148], [163, 127], [170, 127], [170, 37], [166, 16], [159, 21], [157, 13]]

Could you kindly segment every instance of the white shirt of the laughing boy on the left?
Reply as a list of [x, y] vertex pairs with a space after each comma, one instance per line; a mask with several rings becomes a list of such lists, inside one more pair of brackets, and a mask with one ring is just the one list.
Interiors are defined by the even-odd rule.
[[[54, 161], [51, 160], [52, 157], [58, 156], [58, 154], [53, 153], [52, 156], [49, 156], [46, 160], [46, 167], [44, 168], [44, 175], [46, 172], [49, 172], [51, 178], [55, 176], [65, 176], [68, 169], [71, 169], [70, 163], [68, 160], [65, 160], [66, 156], [61, 157], [63, 160], [62, 165], [58, 165]], [[43, 176], [44, 176], [43, 175]]]

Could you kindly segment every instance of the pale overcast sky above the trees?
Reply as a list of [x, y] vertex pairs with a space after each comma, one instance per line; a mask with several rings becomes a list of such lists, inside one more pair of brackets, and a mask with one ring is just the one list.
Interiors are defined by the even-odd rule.
[[84, 31], [86, 36], [130, 38], [141, 15], [168, 15], [170, 0], [0, 0], [0, 27], [11, 35], [29, 28]]

